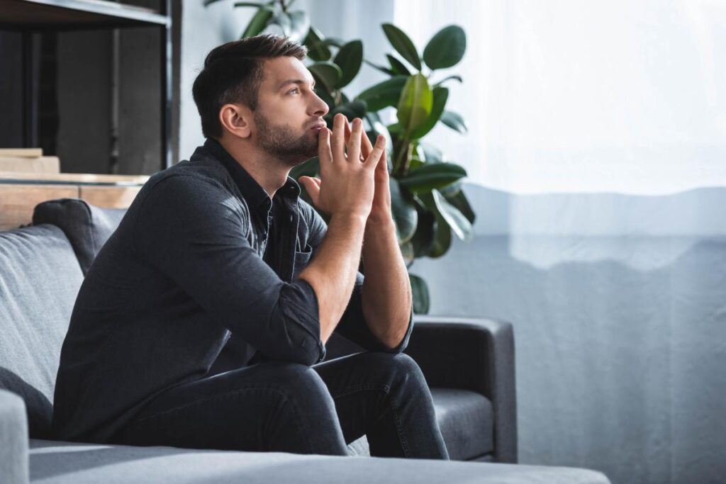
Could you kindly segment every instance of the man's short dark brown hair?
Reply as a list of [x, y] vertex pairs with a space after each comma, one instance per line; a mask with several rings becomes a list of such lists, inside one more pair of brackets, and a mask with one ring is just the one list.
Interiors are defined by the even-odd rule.
[[192, 86], [205, 138], [222, 136], [219, 110], [224, 104], [240, 102], [250, 110], [257, 109], [264, 60], [295, 57], [302, 61], [307, 54], [306, 46], [272, 34], [242, 38], [212, 49]]

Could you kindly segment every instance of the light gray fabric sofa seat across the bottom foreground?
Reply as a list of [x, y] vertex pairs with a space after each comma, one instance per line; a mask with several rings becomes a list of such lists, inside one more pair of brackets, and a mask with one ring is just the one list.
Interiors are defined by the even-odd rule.
[[30, 479], [115, 483], [608, 484], [600, 472], [428, 459], [197, 451], [31, 441]]

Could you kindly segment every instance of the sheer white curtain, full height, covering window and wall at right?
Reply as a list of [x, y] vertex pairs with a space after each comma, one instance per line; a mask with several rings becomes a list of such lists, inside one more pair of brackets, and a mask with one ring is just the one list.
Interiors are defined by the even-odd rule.
[[726, 474], [726, 2], [396, 0], [467, 53], [428, 141], [471, 244], [415, 261], [431, 313], [511, 321], [520, 461], [613, 483]]

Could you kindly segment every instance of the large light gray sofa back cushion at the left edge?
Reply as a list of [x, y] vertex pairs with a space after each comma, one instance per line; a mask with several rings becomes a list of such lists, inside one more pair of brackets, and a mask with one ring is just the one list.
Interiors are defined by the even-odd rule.
[[81, 282], [58, 227], [0, 232], [0, 388], [23, 397], [33, 437], [50, 435], [60, 348]]

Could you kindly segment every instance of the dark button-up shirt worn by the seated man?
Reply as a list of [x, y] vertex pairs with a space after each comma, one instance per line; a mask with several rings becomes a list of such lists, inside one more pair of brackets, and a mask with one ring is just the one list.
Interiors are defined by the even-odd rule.
[[[317, 296], [299, 272], [323, 218], [287, 177], [271, 200], [219, 144], [155, 173], [89, 268], [62, 346], [53, 430], [105, 441], [176, 385], [269, 359], [325, 358]], [[335, 332], [388, 349], [365, 322], [359, 271]], [[411, 311], [411, 316], [412, 316]]]

